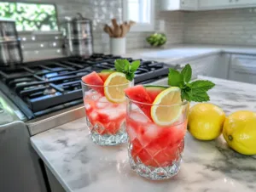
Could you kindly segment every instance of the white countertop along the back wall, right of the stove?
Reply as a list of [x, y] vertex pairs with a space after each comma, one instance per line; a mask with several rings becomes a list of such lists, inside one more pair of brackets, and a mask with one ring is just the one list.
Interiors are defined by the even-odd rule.
[[176, 65], [193, 59], [207, 57], [212, 54], [250, 54], [256, 56], [256, 47], [176, 44], [165, 48], [138, 48], [122, 55], [134, 59], [154, 59], [166, 64]]

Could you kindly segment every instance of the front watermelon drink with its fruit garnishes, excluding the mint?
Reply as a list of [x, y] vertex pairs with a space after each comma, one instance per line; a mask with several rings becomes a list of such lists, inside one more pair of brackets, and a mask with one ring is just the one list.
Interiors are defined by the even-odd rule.
[[189, 103], [178, 88], [138, 85], [125, 93], [131, 168], [145, 178], [171, 178], [182, 159]]

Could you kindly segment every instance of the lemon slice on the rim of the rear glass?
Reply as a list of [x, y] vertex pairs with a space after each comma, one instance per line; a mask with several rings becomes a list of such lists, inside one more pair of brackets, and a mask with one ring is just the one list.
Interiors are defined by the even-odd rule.
[[125, 88], [129, 87], [129, 81], [125, 74], [113, 72], [104, 82], [104, 93], [108, 101], [112, 103], [122, 103], [125, 101]]

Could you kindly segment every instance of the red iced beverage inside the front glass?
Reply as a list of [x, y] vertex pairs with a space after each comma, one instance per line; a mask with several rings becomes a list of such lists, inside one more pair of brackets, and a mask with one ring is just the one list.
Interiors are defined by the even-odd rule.
[[127, 116], [126, 128], [132, 145], [131, 158], [135, 163], [141, 161], [145, 166], [168, 167], [179, 160], [187, 121], [160, 127], [140, 110], [133, 110]]

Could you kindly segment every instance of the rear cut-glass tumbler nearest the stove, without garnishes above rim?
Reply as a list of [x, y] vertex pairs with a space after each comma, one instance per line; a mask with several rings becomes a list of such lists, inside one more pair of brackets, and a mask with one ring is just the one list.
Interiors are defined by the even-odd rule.
[[[86, 124], [90, 138], [99, 145], [116, 145], [127, 142], [125, 129], [126, 102], [112, 103], [104, 96], [104, 86], [82, 83]], [[120, 91], [132, 86], [132, 82], [108, 86]], [[105, 87], [106, 88], [106, 87]]]

